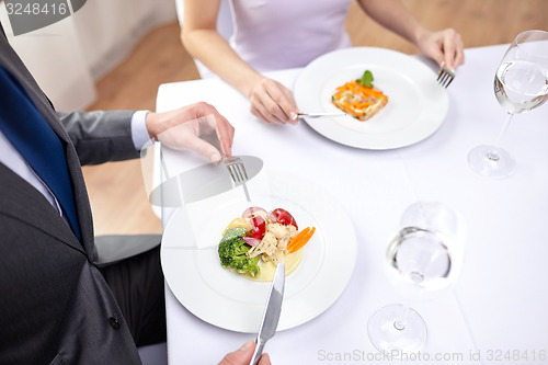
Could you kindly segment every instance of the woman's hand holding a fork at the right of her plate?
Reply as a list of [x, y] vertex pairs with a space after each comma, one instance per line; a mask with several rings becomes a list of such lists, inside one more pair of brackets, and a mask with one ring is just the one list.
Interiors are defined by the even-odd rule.
[[424, 32], [416, 39], [416, 47], [423, 55], [433, 58], [441, 67], [445, 65], [449, 69], [456, 70], [465, 62], [463, 39], [460, 34], [453, 28]]

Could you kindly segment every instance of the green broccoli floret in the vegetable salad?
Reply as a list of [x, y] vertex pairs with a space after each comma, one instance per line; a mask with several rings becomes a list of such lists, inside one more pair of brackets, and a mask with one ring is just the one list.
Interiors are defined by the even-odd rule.
[[246, 253], [251, 249], [240, 236], [246, 233], [244, 228], [228, 229], [219, 242], [219, 259], [224, 267], [231, 267], [239, 274], [259, 274], [259, 256], [248, 258]]

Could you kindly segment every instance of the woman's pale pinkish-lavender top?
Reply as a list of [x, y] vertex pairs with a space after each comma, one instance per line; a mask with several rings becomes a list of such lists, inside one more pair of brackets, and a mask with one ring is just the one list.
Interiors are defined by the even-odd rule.
[[353, 0], [230, 0], [230, 44], [258, 71], [304, 67], [350, 47], [345, 31]]

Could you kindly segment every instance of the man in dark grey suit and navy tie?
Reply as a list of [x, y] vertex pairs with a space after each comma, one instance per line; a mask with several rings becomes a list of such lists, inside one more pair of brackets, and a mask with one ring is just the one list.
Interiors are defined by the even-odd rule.
[[[159, 242], [100, 265], [81, 164], [137, 158], [139, 139], [204, 119], [230, 156], [233, 128], [205, 103], [58, 113], [0, 24], [0, 364], [140, 364], [136, 344], [165, 341]], [[220, 159], [196, 128], [164, 140]], [[247, 364], [253, 347], [222, 363]]]

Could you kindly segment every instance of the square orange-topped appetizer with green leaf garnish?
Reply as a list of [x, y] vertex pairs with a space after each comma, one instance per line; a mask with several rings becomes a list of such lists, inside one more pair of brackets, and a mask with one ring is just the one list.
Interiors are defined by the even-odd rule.
[[373, 84], [373, 73], [366, 70], [361, 79], [336, 88], [332, 103], [358, 121], [367, 121], [388, 103], [388, 96]]

